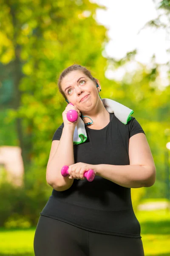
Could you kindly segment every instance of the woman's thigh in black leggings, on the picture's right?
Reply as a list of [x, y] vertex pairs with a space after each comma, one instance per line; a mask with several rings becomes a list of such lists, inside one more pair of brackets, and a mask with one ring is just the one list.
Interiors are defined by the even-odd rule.
[[89, 232], [89, 256], [144, 256], [141, 239]]

